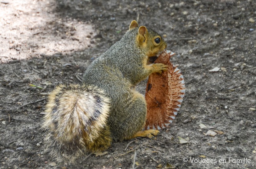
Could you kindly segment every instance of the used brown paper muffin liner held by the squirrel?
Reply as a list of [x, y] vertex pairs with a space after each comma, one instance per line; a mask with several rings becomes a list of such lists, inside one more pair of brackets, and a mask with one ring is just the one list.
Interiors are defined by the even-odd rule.
[[185, 84], [181, 71], [170, 62], [173, 52], [164, 50], [154, 63], [168, 65], [161, 74], [153, 73], [147, 81], [145, 99], [147, 121], [145, 129], [163, 129], [177, 115], [185, 94]]

